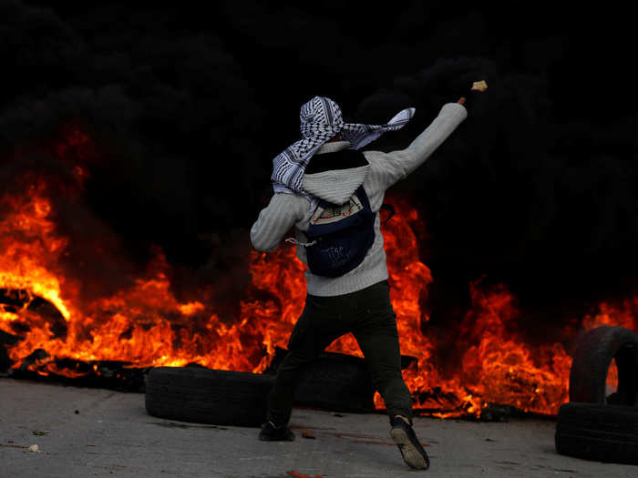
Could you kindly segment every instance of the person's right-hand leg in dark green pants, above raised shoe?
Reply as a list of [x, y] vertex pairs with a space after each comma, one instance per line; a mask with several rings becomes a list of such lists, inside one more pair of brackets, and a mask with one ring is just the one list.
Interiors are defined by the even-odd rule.
[[386, 402], [390, 422], [397, 415], [412, 424], [412, 398], [401, 373], [396, 313], [387, 281], [365, 290], [353, 330], [365, 356], [373, 386]]

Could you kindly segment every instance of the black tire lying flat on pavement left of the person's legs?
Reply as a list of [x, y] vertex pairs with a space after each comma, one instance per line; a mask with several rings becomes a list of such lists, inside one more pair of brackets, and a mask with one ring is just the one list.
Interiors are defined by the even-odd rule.
[[146, 380], [146, 411], [183, 422], [259, 427], [273, 382], [243, 371], [157, 367]]

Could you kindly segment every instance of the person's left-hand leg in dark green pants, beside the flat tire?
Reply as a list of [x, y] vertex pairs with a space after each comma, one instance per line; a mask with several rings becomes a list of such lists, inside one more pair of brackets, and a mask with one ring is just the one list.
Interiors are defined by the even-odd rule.
[[340, 319], [345, 314], [347, 303], [344, 297], [306, 297], [304, 312], [294, 325], [288, 341], [288, 354], [277, 370], [273, 389], [268, 396], [267, 420], [276, 427], [290, 420], [293, 394], [304, 372], [304, 365], [346, 333]]

